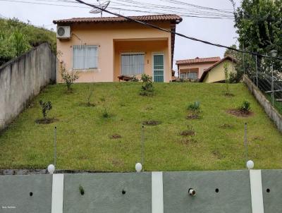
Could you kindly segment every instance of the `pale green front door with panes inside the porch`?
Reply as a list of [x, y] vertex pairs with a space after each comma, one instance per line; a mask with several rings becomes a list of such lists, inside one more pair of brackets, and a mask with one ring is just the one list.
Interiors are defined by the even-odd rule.
[[154, 82], [164, 82], [164, 54], [154, 54], [153, 75]]

